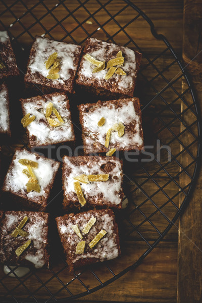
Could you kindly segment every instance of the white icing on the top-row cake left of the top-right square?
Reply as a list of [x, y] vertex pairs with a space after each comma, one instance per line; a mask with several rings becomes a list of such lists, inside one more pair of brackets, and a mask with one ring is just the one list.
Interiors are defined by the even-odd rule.
[[74, 53], [80, 54], [80, 47], [78, 45], [37, 37], [33, 43], [33, 47], [36, 53], [30, 59], [29, 68], [31, 69], [31, 73], [39, 72], [43, 77], [46, 77], [49, 70], [46, 69], [44, 62], [55, 52], [58, 53], [61, 69], [59, 72], [60, 78], [52, 80], [54, 83], [64, 83], [71, 76], [70, 70], [76, 70]]

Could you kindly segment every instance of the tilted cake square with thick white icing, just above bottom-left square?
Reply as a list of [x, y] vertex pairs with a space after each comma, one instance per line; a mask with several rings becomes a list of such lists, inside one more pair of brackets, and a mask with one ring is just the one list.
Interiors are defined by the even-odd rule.
[[26, 210], [44, 210], [60, 163], [17, 148], [3, 191]]

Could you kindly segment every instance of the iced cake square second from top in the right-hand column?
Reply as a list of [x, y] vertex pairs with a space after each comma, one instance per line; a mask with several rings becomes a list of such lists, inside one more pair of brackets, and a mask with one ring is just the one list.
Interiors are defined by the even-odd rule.
[[[81, 104], [79, 114], [85, 154], [104, 153], [111, 148], [123, 151], [143, 148], [138, 98]], [[98, 126], [102, 118], [104, 124]], [[106, 143], [107, 132], [110, 135], [109, 145]]]

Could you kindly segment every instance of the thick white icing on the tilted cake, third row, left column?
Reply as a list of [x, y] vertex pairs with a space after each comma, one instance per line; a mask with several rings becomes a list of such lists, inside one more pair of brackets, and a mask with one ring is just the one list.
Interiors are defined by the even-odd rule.
[[[59, 164], [51, 159], [40, 157], [36, 159], [35, 154], [29, 153], [26, 149], [16, 150], [15, 153], [16, 159], [14, 160], [14, 166], [9, 169], [6, 179], [5, 179], [5, 189], [6, 191], [14, 191], [16, 193], [26, 194], [28, 199], [33, 199], [38, 196], [48, 197], [47, 186], [51, 183], [54, 174], [58, 170]], [[18, 161], [20, 159], [27, 159], [35, 161], [38, 163], [38, 168], [33, 168], [33, 172], [38, 180], [40, 185], [40, 192], [26, 191], [26, 183], [28, 182], [28, 177], [22, 173], [23, 169], [26, 169], [26, 166], [20, 164]], [[54, 166], [52, 167], [52, 164]]]

